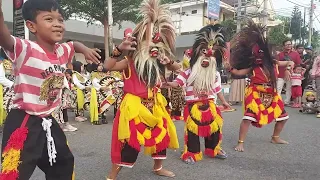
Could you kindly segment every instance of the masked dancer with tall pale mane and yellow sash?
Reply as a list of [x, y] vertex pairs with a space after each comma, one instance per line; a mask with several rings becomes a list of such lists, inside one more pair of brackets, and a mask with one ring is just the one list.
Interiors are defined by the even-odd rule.
[[[112, 170], [107, 179], [115, 179], [121, 167], [133, 167], [141, 146], [154, 159], [156, 175], [173, 177], [174, 173], [162, 167], [167, 148], [178, 148], [175, 125], [160, 93], [164, 68], [175, 70], [179, 64], [166, 55], [175, 48], [175, 27], [169, 9], [159, 0], [143, 2], [142, 22], [105, 62], [107, 70], [123, 71], [124, 97], [114, 120], [111, 160]], [[132, 40], [136, 39], [136, 42]], [[132, 47], [135, 45], [136, 48]], [[127, 58], [117, 62], [124, 50], [132, 50]]]

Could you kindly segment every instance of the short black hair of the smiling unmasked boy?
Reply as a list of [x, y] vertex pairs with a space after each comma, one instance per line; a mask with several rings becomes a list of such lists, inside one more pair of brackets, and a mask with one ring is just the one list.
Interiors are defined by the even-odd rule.
[[63, 10], [57, 0], [28, 0], [23, 4], [22, 16], [25, 21], [36, 21], [39, 11], [56, 11], [63, 16]]

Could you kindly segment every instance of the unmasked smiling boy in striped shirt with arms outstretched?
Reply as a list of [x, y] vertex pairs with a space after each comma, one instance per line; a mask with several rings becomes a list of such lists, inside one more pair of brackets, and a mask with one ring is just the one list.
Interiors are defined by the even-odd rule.
[[[19, 9], [22, 3], [14, 5]], [[0, 179], [27, 180], [38, 166], [47, 179], [71, 180], [74, 157], [51, 113], [60, 103], [64, 71], [74, 52], [94, 62], [100, 56], [79, 42], [58, 43], [65, 25], [55, 0], [28, 0], [22, 14], [35, 42], [11, 36], [0, 8], [0, 46], [16, 76], [13, 108], [3, 130]]]

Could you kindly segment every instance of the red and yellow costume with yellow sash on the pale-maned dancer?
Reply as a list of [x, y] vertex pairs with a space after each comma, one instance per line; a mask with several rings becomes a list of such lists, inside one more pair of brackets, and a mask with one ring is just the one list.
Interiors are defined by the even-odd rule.
[[179, 148], [175, 126], [165, 108], [166, 99], [158, 87], [148, 89], [139, 80], [132, 59], [123, 80], [124, 97], [113, 127], [112, 162], [132, 167], [141, 145], [145, 154], [164, 159], [167, 148]]

